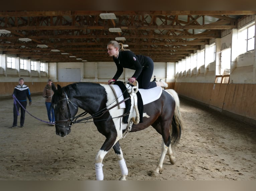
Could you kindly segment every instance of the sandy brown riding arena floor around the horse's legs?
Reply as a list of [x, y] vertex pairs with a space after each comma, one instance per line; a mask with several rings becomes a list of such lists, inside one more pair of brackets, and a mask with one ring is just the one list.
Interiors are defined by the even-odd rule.
[[[32, 95], [33, 116], [47, 120], [44, 99]], [[24, 128], [10, 128], [13, 99], [0, 100], [0, 180], [95, 180], [94, 158], [104, 137], [93, 123], [72, 126], [66, 137], [26, 113]], [[127, 180], [256, 180], [256, 127], [181, 99], [184, 121], [180, 142], [166, 155], [163, 172], [151, 177], [161, 152], [161, 136], [152, 128], [120, 140], [129, 170]], [[19, 117], [18, 117], [19, 121]], [[103, 161], [104, 179], [118, 180], [113, 149]]]

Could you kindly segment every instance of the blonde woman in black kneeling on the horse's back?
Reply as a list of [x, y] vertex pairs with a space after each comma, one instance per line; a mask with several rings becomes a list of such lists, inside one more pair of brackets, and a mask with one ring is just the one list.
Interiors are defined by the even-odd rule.
[[108, 83], [115, 82], [123, 73], [123, 68], [135, 70], [129, 82], [133, 83], [137, 80], [139, 88], [150, 89], [156, 86], [168, 87], [162, 79], [160, 82], [150, 82], [153, 70], [154, 62], [151, 58], [143, 55], [135, 55], [132, 51], [124, 51], [122, 43], [117, 41], [110, 41], [107, 45], [109, 56], [113, 57], [113, 60], [117, 67], [117, 72], [113, 79]]

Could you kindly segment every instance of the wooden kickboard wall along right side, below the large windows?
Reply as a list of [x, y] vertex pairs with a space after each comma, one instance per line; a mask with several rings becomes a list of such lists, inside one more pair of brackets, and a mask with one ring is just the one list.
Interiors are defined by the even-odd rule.
[[175, 83], [179, 94], [256, 120], [256, 84]]

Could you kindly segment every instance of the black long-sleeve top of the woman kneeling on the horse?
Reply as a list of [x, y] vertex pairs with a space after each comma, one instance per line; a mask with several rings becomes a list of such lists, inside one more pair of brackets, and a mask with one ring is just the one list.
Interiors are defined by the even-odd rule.
[[117, 67], [117, 71], [113, 79], [117, 81], [117, 79], [123, 73], [123, 68], [135, 70], [132, 77], [137, 79], [142, 71], [142, 68], [147, 65], [146, 58], [147, 57], [143, 55], [135, 55], [132, 51], [120, 51], [117, 58], [113, 56], [113, 60]]

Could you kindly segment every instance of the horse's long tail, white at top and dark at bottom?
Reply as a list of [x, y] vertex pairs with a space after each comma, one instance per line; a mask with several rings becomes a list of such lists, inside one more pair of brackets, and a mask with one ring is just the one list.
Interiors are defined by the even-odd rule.
[[181, 131], [183, 127], [183, 121], [180, 114], [179, 97], [178, 94], [173, 89], [167, 89], [166, 92], [168, 92], [170, 95], [174, 97], [176, 103], [174, 114], [171, 121], [171, 140], [173, 141], [173, 144], [175, 144], [179, 141], [181, 137]]

